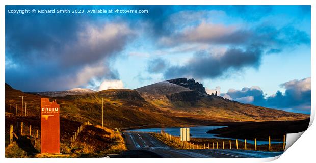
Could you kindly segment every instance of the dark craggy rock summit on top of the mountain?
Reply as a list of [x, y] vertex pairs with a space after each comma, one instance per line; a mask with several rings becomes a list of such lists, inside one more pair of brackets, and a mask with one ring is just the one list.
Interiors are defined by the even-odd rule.
[[203, 85], [201, 83], [195, 82], [193, 78], [190, 78], [189, 80], [187, 78], [176, 78], [167, 80], [167, 82], [189, 88], [190, 90], [197, 91], [202, 95], [207, 94]]

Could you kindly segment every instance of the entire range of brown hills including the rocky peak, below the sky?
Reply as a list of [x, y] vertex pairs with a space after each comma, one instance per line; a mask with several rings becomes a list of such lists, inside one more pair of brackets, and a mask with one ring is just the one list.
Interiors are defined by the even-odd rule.
[[[65, 92], [65, 93], [64, 93]], [[57, 95], [58, 96], [55, 96]], [[6, 112], [21, 111], [21, 98], [29, 115], [40, 115], [40, 98], [56, 99], [61, 116], [69, 120], [100, 124], [101, 98], [104, 125], [119, 128], [212, 125], [221, 122], [302, 120], [309, 115], [230, 101], [208, 95], [202, 84], [186, 78], [172, 79], [136, 90], [109, 89], [94, 92], [75, 89], [58, 93], [24, 93], [6, 84]], [[54, 97], [54, 98], [52, 98]], [[24, 104], [23, 104], [24, 105]]]

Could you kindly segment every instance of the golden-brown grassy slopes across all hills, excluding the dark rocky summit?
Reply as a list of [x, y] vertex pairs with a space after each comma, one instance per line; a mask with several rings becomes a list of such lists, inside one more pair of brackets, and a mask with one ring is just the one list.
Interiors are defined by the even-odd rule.
[[[29, 116], [39, 116], [40, 98], [6, 85], [6, 112], [15, 114], [15, 104], [21, 111], [19, 96], [27, 96]], [[104, 126], [110, 128], [161, 127], [209, 125], [214, 122], [302, 120], [309, 115], [289, 113], [266, 107], [242, 104], [219, 96], [200, 98], [192, 105], [179, 105], [165, 99], [148, 99], [135, 90], [104, 90], [86, 95], [68, 95], [54, 99], [61, 106], [61, 117], [77, 121], [101, 124], [101, 98], [103, 98]], [[53, 100], [50, 98], [50, 100]]]

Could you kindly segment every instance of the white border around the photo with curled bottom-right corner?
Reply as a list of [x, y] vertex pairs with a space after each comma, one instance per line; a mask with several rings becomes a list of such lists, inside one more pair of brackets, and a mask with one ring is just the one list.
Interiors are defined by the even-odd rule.
[[[85, 1], [85, 0], [77, 0], [77, 1], [36, 1], [36, 0], [29, 0], [29, 1], [17, 1], [17, 0], [11, 0], [11, 1], [0, 1], [1, 8], [0, 8], [0, 49], [1, 49], [1, 56], [0, 56], [0, 82], [2, 83], [2, 86], [0, 87], [0, 104], [1, 106], [5, 105], [5, 5], [311, 5], [311, 78], [315, 74], [315, 1], [311, 0], [213, 0], [213, 1], [203, 1], [203, 0], [160, 0], [160, 1], [142, 1], [142, 0], [135, 0], [135, 1], [128, 1], [128, 0], [117, 0], [117, 1], [102, 1], [102, 0], [96, 0], [96, 1]], [[315, 91], [314, 91], [314, 80], [311, 80], [311, 99], [315, 99]], [[3, 107], [2, 107], [3, 108]], [[311, 101], [311, 122], [310, 125], [314, 119], [315, 115], [315, 102]], [[4, 109], [3, 109], [4, 110]], [[1, 116], [4, 117], [5, 112], [2, 111]], [[5, 125], [5, 119], [0, 119], [1, 130], [4, 131], [4, 125]], [[315, 127], [314, 125], [311, 126], [305, 134], [302, 135], [302, 139], [299, 139], [297, 143], [293, 145], [292, 148], [288, 149], [288, 146], [286, 149], [288, 149], [279, 159], [277, 159], [277, 162], [285, 162], [285, 161], [302, 161], [302, 160], [313, 160], [314, 156], [314, 148], [315, 148]], [[293, 140], [298, 139], [298, 135], [288, 135], [288, 139], [294, 137]], [[4, 134], [0, 134], [0, 140], [4, 140]], [[287, 140], [289, 141], [289, 140]], [[23, 158], [15, 158], [15, 159], [9, 159], [4, 158], [5, 157], [5, 144], [2, 143], [2, 147], [0, 148], [1, 154], [1, 162], [66, 162], [66, 161], [78, 161], [78, 162], [88, 162], [88, 161], [107, 161], [107, 162], [120, 162], [120, 161], [131, 161], [131, 162], [161, 162], [161, 161], [167, 161], [167, 162], [191, 162], [192, 161], [199, 161], [199, 162], [209, 162], [216, 161], [216, 162], [266, 162], [271, 161], [276, 158], [214, 158], [214, 159], [206, 159], [206, 158], [164, 158], [164, 159], [125, 159], [125, 158], [118, 158], [118, 159], [103, 159], [103, 158], [57, 158], [57, 159], [23, 159]]]

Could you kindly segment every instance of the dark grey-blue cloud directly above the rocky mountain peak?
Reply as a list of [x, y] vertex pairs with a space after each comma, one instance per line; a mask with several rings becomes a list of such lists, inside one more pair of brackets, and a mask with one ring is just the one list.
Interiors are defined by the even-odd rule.
[[164, 71], [165, 78], [190, 76], [195, 78], [214, 78], [228, 70], [241, 70], [245, 67], [258, 67], [262, 52], [255, 47], [246, 50], [228, 49], [223, 55], [215, 56], [205, 51], [196, 53], [183, 66], [171, 66]]

